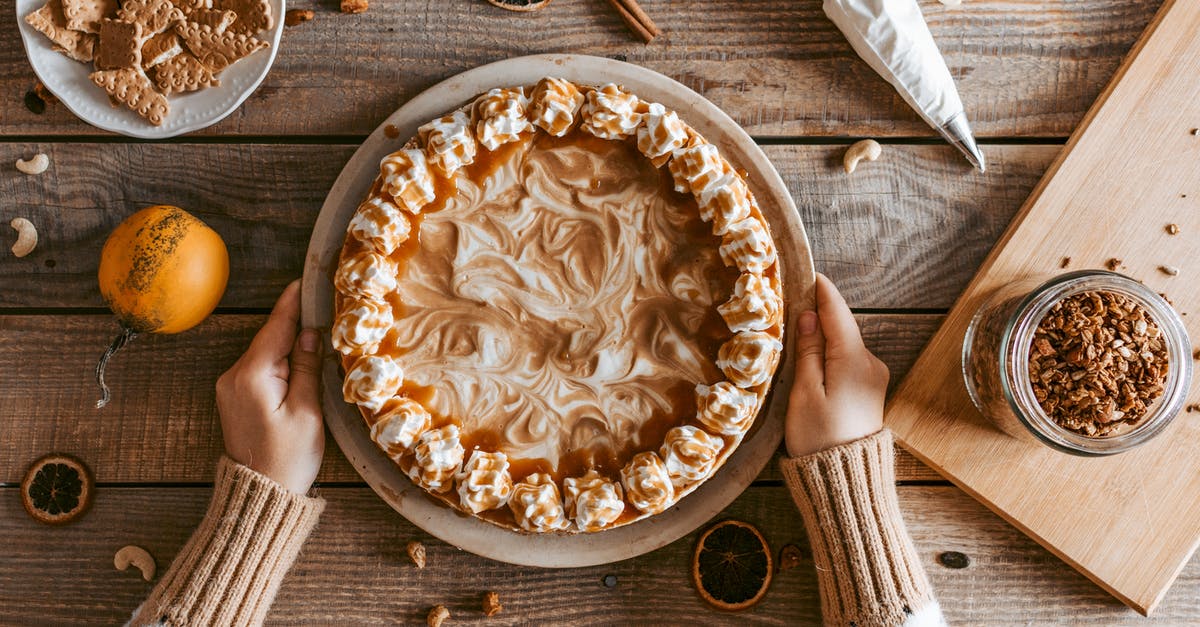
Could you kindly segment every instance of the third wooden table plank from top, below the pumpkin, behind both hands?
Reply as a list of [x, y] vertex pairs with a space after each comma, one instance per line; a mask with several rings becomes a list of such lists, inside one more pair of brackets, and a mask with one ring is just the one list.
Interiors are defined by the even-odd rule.
[[[208, 480], [223, 450], [212, 386], [265, 320], [217, 315], [180, 335], [138, 338], [108, 366], [113, 401], [94, 408], [96, 359], [118, 327], [108, 316], [0, 316], [0, 484], [16, 484], [38, 456], [62, 450], [102, 483]], [[940, 316], [862, 316], [868, 346], [899, 381]], [[901, 480], [937, 479], [911, 456]], [[768, 464], [762, 480], [779, 480]], [[326, 446], [318, 480], [360, 482], [337, 446]]]

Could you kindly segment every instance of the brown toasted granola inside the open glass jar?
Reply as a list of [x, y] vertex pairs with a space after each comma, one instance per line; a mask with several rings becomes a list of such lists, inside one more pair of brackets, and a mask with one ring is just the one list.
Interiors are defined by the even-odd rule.
[[1054, 305], [1033, 334], [1030, 381], [1063, 429], [1103, 437], [1135, 425], [1163, 395], [1166, 344], [1134, 300], [1084, 292]]

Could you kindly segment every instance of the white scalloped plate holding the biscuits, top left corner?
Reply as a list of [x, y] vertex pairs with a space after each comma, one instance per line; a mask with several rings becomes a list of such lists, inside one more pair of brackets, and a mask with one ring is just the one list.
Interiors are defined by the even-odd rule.
[[95, 71], [91, 64], [54, 52], [50, 40], [25, 23], [25, 16], [41, 8], [44, 0], [17, 0], [17, 25], [20, 28], [20, 40], [25, 43], [25, 55], [38, 80], [80, 120], [130, 137], [164, 139], [221, 121], [266, 78], [266, 72], [275, 62], [275, 53], [280, 49], [284, 11], [284, 0], [269, 2], [275, 13], [275, 28], [259, 32], [258, 37], [271, 46], [227, 67], [218, 77], [218, 86], [167, 96], [170, 113], [161, 126], [150, 124], [128, 107], [113, 108], [108, 102], [108, 94], [88, 79], [88, 74]]

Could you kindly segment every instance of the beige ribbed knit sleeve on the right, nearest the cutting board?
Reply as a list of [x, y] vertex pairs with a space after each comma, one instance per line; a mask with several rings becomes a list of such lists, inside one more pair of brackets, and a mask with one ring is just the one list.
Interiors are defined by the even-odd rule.
[[900, 518], [892, 432], [782, 460], [812, 545], [826, 625], [944, 625]]

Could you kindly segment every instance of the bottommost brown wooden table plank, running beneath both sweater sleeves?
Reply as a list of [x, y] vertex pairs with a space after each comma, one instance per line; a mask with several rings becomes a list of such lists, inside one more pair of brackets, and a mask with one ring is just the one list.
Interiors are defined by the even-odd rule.
[[[29, 519], [16, 489], [0, 489], [0, 623], [113, 625], [126, 620], [152, 584], [113, 569], [126, 544], [148, 549], [160, 574], [203, 516], [206, 488], [106, 488], [77, 524], [49, 529]], [[1144, 625], [1082, 575], [948, 486], [900, 488], [900, 502], [922, 563], [950, 625]], [[455, 625], [817, 625], [812, 563], [776, 575], [767, 597], [734, 615], [707, 609], [692, 592], [689, 562], [696, 535], [642, 557], [552, 571], [514, 567], [458, 551], [414, 527], [366, 488], [326, 488], [322, 521], [283, 583], [269, 622], [280, 625], [424, 625], [445, 604]], [[751, 488], [719, 518], [755, 524], [778, 551], [806, 548], [784, 488]], [[428, 553], [418, 571], [404, 544]], [[959, 551], [970, 566], [937, 561]], [[617, 585], [606, 587], [605, 575]], [[486, 621], [479, 598], [500, 595], [504, 611]], [[1200, 561], [1193, 560], [1158, 614], [1184, 625], [1200, 614]]]

